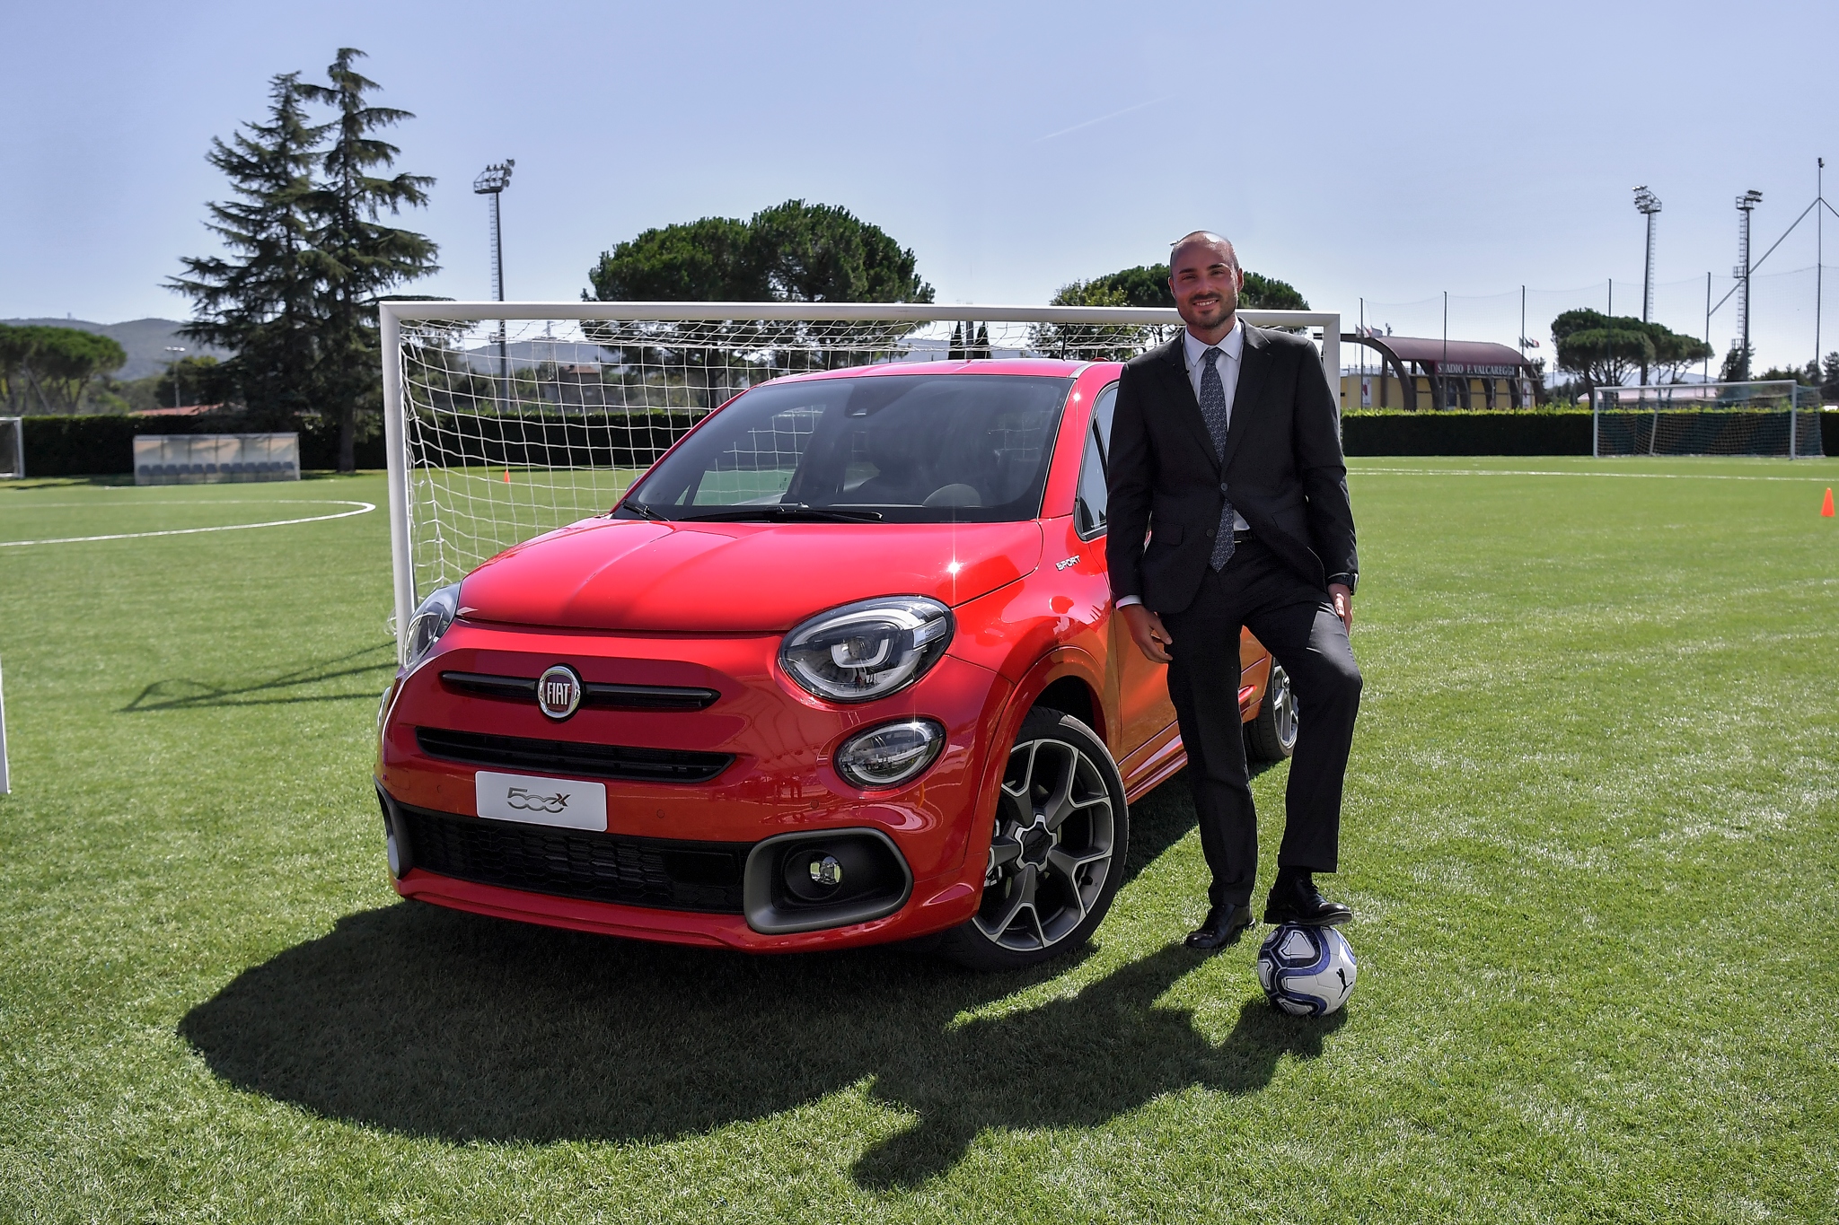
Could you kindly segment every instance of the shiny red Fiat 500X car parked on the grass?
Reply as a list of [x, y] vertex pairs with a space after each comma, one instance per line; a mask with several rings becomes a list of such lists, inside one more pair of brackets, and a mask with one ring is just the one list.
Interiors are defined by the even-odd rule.
[[[747, 951], [1081, 944], [1184, 757], [1113, 617], [1118, 364], [780, 378], [430, 595], [379, 714], [395, 891]], [[1254, 757], [1296, 711], [1251, 634]]]

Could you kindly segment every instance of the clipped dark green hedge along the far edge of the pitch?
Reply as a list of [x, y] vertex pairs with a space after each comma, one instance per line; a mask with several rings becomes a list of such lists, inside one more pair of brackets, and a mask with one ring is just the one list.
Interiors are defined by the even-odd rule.
[[[570, 421], [508, 424], [441, 413], [432, 437], [452, 457], [484, 465], [649, 463], [690, 428], [690, 413], [594, 413]], [[134, 470], [136, 433], [223, 433], [197, 417], [26, 417], [29, 476], [120, 476]], [[1828, 455], [1839, 455], [1839, 411], [1821, 413]], [[1589, 413], [1350, 413], [1341, 422], [1348, 455], [1589, 455]], [[338, 466], [335, 426], [300, 432], [302, 468]], [[357, 466], [384, 466], [383, 435], [357, 444]]]

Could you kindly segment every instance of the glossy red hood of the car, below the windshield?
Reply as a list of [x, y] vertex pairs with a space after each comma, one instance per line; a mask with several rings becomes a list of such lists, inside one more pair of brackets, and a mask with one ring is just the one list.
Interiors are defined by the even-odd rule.
[[1039, 562], [1034, 522], [588, 520], [467, 575], [460, 615], [570, 630], [785, 632], [872, 595], [931, 595], [956, 606]]

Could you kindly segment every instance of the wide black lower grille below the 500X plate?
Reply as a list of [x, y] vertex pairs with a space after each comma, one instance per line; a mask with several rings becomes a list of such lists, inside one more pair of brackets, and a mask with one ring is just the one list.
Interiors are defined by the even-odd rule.
[[704, 915], [741, 913], [748, 843], [686, 843], [454, 817], [395, 804], [414, 865], [526, 893]]

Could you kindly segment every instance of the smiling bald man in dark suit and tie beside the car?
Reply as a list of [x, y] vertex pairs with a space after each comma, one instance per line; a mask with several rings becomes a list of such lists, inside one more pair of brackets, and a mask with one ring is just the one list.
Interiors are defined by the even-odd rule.
[[[1315, 345], [1245, 327], [1232, 244], [1197, 231], [1170, 255], [1186, 331], [1124, 367], [1111, 424], [1111, 593], [1137, 646], [1168, 663], [1201, 849], [1214, 880], [1194, 948], [1252, 926], [1258, 815], [1239, 724], [1239, 628], [1291, 678], [1298, 707], [1287, 823], [1265, 922], [1339, 924], [1341, 784], [1361, 670], [1354, 509], [1341, 413]], [[1148, 536], [1148, 544], [1146, 544]]]

